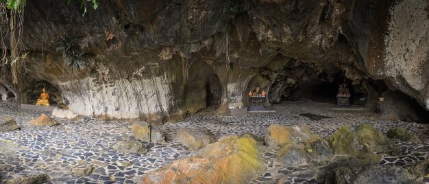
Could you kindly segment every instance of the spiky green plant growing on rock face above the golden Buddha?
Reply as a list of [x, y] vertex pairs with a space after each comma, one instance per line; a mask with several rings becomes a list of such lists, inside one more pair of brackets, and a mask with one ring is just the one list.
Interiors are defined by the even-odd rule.
[[74, 68], [79, 71], [85, 67], [86, 62], [82, 60], [84, 52], [80, 49], [75, 36], [65, 36], [62, 38], [60, 41], [58, 41], [55, 50], [62, 50], [62, 58], [64, 58], [64, 61], [67, 63], [67, 65], [69, 65], [69, 68]]

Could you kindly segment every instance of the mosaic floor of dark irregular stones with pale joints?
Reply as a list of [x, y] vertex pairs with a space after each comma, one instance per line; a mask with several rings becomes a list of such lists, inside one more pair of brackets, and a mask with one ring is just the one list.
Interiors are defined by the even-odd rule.
[[[46, 173], [52, 183], [136, 183], [140, 176], [149, 171], [167, 165], [175, 159], [188, 157], [193, 152], [172, 141], [179, 128], [208, 128], [217, 138], [227, 135], [253, 133], [265, 135], [271, 124], [307, 124], [310, 129], [327, 139], [344, 124], [357, 125], [369, 123], [382, 133], [389, 128], [402, 126], [416, 133], [423, 141], [421, 144], [398, 142], [402, 148], [400, 157], [384, 157], [382, 164], [407, 165], [422, 161], [429, 154], [429, 126], [382, 120], [369, 112], [338, 112], [330, 108], [333, 104], [310, 101], [284, 102], [275, 104], [276, 113], [238, 115], [234, 117], [212, 115], [215, 108], [208, 108], [197, 115], [177, 124], [167, 123], [161, 126], [167, 133], [167, 143], [146, 143], [147, 154], [121, 153], [111, 146], [123, 139], [132, 139], [130, 124], [127, 122], [101, 122], [85, 118], [80, 122], [60, 120], [59, 126], [38, 128], [27, 122], [39, 112], [18, 108], [15, 104], [0, 102], [0, 115], [16, 118], [21, 130], [0, 133], [0, 178], [8, 181], [28, 174]], [[299, 114], [309, 113], [330, 118], [311, 120]], [[49, 113], [47, 113], [50, 115]], [[275, 161], [273, 150], [264, 150], [269, 170], [251, 183], [270, 183], [280, 177], [289, 176], [287, 183], [312, 183], [314, 179], [293, 176], [294, 171], [306, 168], [284, 168]], [[79, 172], [90, 168], [89, 176], [77, 176]]]

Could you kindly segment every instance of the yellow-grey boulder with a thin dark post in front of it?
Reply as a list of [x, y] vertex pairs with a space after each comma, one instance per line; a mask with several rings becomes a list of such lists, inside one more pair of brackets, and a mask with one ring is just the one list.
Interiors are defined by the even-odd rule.
[[134, 122], [131, 126], [131, 135], [136, 139], [152, 143], [165, 143], [165, 135], [159, 126], [147, 122]]

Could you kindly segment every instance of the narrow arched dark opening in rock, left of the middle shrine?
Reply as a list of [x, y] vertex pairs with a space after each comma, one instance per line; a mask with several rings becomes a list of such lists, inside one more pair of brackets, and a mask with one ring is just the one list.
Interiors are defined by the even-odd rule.
[[208, 81], [206, 82], [206, 107], [221, 104], [221, 97], [221, 80], [219, 80], [215, 74], [212, 74], [208, 77]]

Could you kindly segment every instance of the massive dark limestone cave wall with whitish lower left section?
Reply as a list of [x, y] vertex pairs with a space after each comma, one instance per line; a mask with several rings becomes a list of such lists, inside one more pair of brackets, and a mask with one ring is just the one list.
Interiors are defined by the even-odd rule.
[[[224, 113], [232, 93], [245, 102], [257, 82], [280, 102], [344, 71], [356, 84], [384, 80], [429, 109], [427, 7], [423, 0], [120, 0], [82, 17], [77, 1], [29, 1], [23, 48], [30, 54], [23, 84], [12, 89], [25, 98], [29, 81], [47, 81], [74, 113], [159, 123], [200, 111], [208, 96]], [[85, 52], [82, 71], [55, 51], [64, 36]]]

